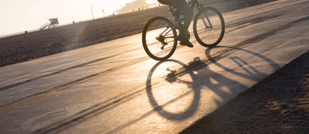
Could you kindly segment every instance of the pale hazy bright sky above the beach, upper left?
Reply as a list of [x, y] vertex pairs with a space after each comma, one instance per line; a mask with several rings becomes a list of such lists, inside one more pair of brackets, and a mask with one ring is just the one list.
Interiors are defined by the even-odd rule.
[[[0, 0], [0, 35], [38, 29], [47, 19], [59, 18], [60, 24], [92, 19], [112, 14], [134, 0]], [[149, 3], [157, 0], [147, 0]]]

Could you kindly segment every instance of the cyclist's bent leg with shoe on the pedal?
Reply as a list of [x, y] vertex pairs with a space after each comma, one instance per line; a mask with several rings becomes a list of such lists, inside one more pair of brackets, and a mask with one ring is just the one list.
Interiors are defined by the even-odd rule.
[[190, 8], [190, 6], [187, 4], [186, 0], [158, 0], [159, 3], [164, 5], [169, 5], [177, 10], [180, 10], [183, 12], [185, 18], [184, 18], [184, 27], [179, 28], [179, 37], [178, 40], [180, 41], [181, 45], [186, 45], [188, 47], [193, 47], [192, 43], [186, 38], [186, 31], [188, 30], [192, 17], [193, 17], [193, 11]]

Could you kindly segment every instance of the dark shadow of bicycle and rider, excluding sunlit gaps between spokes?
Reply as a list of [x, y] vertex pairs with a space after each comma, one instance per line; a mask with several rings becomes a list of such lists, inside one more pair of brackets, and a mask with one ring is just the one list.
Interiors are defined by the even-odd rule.
[[[218, 54], [218, 56], [213, 57], [210, 52], [213, 49], [216, 48], [225, 48], [225, 50], [220, 51], [221, 54]], [[215, 105], [218, 107], [224, 103], [224, 98], [227, 96], [236, 94], [238, 90], [234, 89], [244, 89], [244, 88], [250, 88], [246, 87], [244, 84], [237, 82], [235, 80], [229, 79], [224, 76], [225, 73], [231, 73], [233, 75], [236, 75], [241, 78], [245, 78], [246, 80], [251, 81], [257, 81], [260, 80], [259, 78], [265, 78], [268, 75], [259, 72], [256, 70], [256, 66], [251, 66], [249, 62], [246, 62], [241, 57], [230, 57], [230, 60], [237, 64], [236, 68], [229, 68], [225, 66], [224, 64], [221, 64], [217, 62], [221, 58], [225, 58], [227, 54], [233, 52], [233, 51], [242, 51], [249, 54], [254, 55], [255, 59], [263, 59], [267, 62], [268, 65], [271, 66], [277, 66], [278, 64], [275, 63], [273, 60], [259, 54], [255, 53], [249, 50], [245, 50], [242, 48], [237, 47], [226, 47], [226, 46], [217, 46], [213, 48], [209, 48], [205, 50], [205, 55], [207, 56], [207, 59], [201, 60], [199, 57], [195, 57], [192, 61], [190, 61], [188, 64], [185, 64], [179, 60], [175, 59], [169, 59], [165, 61], [160, 61], [156, 65], [154, 65], [151, 70], [148, 73], [147, 81], [146, 81], [146, 91], [147, 96], [150, 104], [152, 105], [153, 109], [162, 117], [165, 117], [169, 120], [177, 120], [181, 121], [184, 119], [187, 119], [188, 117], [192, 116], [199, 105], [200, 97], [201, 97], [201, 90], [211, 90], [211, 92], [215, 93], [216, 96], [219, 96], [219, 99], [214, 98]], [[251, 61], [253, 61], [252, 59]], [[156, 82], [156, 79], [158, 78], [152, 78], [152, 75], [156, 73], [156, 69], [163, 64], [169, 64], [169, 62], [173, 62], [176, 64], [179, 64], [179, 68], [176, 69], [170, 69], [166, 68], [166, 71], [169, 72], [166, 76], [161, 77], [164, 78], [165, 82], [168, 82], [170, 84], [177, 84], [182, 83], [186, 84], [188, 88], [191, 89], [191, 91], [185, 92], [183, 94], [180, 94], [179, 96], [175, 98], [167, 98], [169, 101], [167, 101], [164, 104], [159, 104], [161, 100], [155, 97], [155, 96], [163, 96], [162, 94], [154, 95], [155, 93], [153, 90], [156, 90], [156, 88], [162, 89], [162, 86], [164, 84], [161, 84], [159, 82]], [[209, 69], [208, 64], [215, 64], [220, 69], [224, 71], [214, 72]], [[242, 72], [239, 70], [243, 70]], [[275, 68], [273, 68], [275, 71]], [[185, 81], [181, 80], [182, 76], [185, 74], [189, 75], [191, 77], [191, 81]], [[152, 80], [153, 79], [153, 80]], [[159, 79], [160, 81], [162, 79]], [[157, 86], [160, 85], [160, 86]], [[177, 87], [176, 87], [177, 88]], [[226, 88], [229, 90], [229, 92], [226, 91]], [[224, 90], [225, 89], [225, 90]], [[166, 90], [170, 90], [168, 87]], [[193, 99], [191, 101], [185, 101], [183, 103], [190, 103], [189, 106], [182, 110], [182, 112], [174, 112], [174, 110], [169, 111], [164, 109], [164, 107], [167, 107], [168, 105], [171, 105], [174, 102], [177, 102], [185, 97], [188, 97], [189, 94], [193, 94]]]

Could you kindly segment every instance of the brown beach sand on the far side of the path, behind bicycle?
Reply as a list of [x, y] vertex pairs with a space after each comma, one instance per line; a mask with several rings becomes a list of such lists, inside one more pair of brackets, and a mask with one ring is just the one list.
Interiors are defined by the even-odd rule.
[[[272, 1], [275, 0], [211, 0], [205, 5], [226, 13]], [[156, 16], [173, 20], [169, 8], [164, 6], [0, 38], [0, 67], [138, 34]]]

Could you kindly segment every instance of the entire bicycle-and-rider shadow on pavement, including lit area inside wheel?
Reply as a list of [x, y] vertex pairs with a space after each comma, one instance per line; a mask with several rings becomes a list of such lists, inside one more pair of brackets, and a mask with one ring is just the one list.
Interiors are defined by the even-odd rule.
[[[212, 57], [210, 52], [216, 48], [225, 48], [225, 50], [220, 51], [216, 57]], [[226, 46], [209, 48], [205, 51], [207, 59], [201, 60], [199, 57], [195, 57], [188, 64], [175, 59], [158, 62], [150, 70], [146, 81], [147, 96], [153, 109], [169, 120], [184, 120], [192, 116], [198, 109], [202, 90], [208, 90], [205, 92], [214, 94], [211, 97], [215, 103], [210, 106], [218, 107], [225, 103], [228, 96], [237, 95], [238, 89], [250, 88], [242, 82], [225, 77], [227, 73], [256, 82], [261, 80], [259, 78], [268, 76], [256, 69], [260, 66], [251, 66], [250, 60], [246, 62], [241, 57], [229, 57], [232, 62], [237, 64], [235, 68], [229, 68], [217, 62], [221, 58], [226, 58], [225, 56], [233, 51], [252, 54], [255, 59], [262, 59], [270, 66], [278, 65], [259, 53]], [[251, 61], [253, 60], [251, 59]], [[223, 71], [210, 70], [208, 64], [212, 63]], [[166, 73], [163, 73], [163, 70]], [[275, 71], [274, 67], [273, 70]], [[167, 75], [156, 76], [156, 71], [160, 72], [158, 74]], [[162, 82], [162, 80], [164, 81]]]

